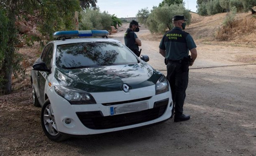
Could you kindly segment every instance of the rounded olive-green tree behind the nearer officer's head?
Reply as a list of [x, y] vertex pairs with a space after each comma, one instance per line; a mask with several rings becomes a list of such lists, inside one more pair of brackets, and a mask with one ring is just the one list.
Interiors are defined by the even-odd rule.
[[173, 4], [170, 6], [165, 4], [162, 7], [155, 7], [153, 10], [151, 10], [151, 13], [146, 21], [146, 26], [152, 33], [165, 33], [167, 28], [169, 30], [172, 29], [172, 17], [174, 15], [184, 15], [185, 18], [188, 19], [186, 23], [188, 25], [190, 24], [191, 14], [183, 4]]

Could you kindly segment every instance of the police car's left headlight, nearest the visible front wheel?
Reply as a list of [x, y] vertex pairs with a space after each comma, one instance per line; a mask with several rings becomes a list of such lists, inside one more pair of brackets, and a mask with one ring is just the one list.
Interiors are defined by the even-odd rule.
[[95, 104], [93, 96], [83, 90], [64, 86], [54, 86], [57, 94], [69, 101], [70, 104]]

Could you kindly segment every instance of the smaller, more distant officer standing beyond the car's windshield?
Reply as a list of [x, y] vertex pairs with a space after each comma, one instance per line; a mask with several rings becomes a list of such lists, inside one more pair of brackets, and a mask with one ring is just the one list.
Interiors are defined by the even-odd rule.
[[124, 33], [124, 43], [125, 45], [134, 52], [138, 57], [140, 56], [139, 46], [141, 46], [141, 41], [134, 32], [139, 32], [139, 23], [132, 20], [129, 28]]

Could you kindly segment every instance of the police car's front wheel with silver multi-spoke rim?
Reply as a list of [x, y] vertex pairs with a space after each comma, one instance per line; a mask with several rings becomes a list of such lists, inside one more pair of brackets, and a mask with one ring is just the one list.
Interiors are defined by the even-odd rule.
[[57, 129], [49, 99], [44, 102], [42, 107], [41, 124], [45, 135], [52, 141], [60, 142], [68, 138], [68, 136], [61, 134]]

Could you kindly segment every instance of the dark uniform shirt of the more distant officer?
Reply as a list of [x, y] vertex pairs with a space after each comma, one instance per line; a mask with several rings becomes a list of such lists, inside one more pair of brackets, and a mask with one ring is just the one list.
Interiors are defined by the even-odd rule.
[[138, 38], [137, 35], [130, 28], [128, 28], [124, 33], [124, 43], [133, 52], [139, 51], [139, 46], [135, 44], [136, 38]]

